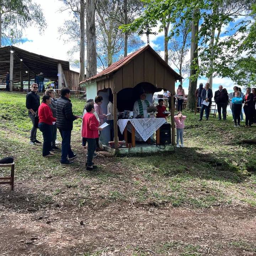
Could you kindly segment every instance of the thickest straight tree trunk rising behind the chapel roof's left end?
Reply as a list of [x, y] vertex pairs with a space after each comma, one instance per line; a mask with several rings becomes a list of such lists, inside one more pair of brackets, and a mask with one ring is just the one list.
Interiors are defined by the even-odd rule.
[[95, 1], [87, 0], [86, 5], [87, 66], [86, 79], [97, 74]]

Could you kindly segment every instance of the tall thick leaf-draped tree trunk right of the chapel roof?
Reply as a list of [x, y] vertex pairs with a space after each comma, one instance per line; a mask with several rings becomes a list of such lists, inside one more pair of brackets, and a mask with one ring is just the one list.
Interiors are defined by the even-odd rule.
[[191, 26], [191, 55], [190, 55], [190, 81], [188, 87], [187, 110], [193, 110], [196, 105], [196, 97], [194, 96], [197, 88], [197, 69], [198, 69], [198, 24], [199, 9], [194, 10], [194, 17]]

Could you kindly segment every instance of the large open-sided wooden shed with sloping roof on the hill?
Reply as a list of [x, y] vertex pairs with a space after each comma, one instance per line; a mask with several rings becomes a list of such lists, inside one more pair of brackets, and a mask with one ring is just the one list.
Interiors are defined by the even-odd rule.
[[15, 46], [0, 47], [0, 76], [4, 78], [10, 72], [10, 90], [12, 83], [23, 80], [34, 80], [37, 73], [42, 72], [44, 77], [57, 81], [59, 87], [78, 86], [79, 73], [69, 70], [69, 62], [49, 58], [40, 54], [28, 52]]

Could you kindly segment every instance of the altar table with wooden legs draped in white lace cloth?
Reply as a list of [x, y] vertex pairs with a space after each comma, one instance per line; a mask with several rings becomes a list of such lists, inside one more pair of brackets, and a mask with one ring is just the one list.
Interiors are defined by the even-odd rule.
[[[136, 138], [140, 137], [147, 142], [150, 137], [156, 132], [156, 144], [160, 143], [159, 128], [162, 124], [166, 123], [165, 118], [134, 118], [134, 119], [119, 119], [117, 124], [120, 128], [120, 132], [124, 134], [124, 140], [126, 141], [127, 148], [135, 147]], [[132, 134], [132, 143], [129, 145], [127, 140], [127, 130]], [[150, 141], [148, 141], [150, 144]]]

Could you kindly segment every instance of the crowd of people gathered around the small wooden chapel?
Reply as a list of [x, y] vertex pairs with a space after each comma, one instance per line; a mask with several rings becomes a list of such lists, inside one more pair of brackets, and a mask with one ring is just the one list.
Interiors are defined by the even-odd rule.
[[[41, 144], [37, 140], [37, 128], [43, 134], [43, 157], [50, 157], [54, 155], [54, 152], [61, 150], [60, 162], [64, 165], [69, 165], [74, 162], [76, 154], [72, 151], [70, 140], [71, 131], [73, 129], [73, 122], [82, 118], [81, 124], [81, 136], [82, 146], [86, 148], [87, 143], [87, 170], [95, 169], [96, 166], [92, 159], [97, 156], [97, 151], [101, 151], [99, 143], [99, 136], [102, 128], [101, 124], [106, 122], [110, 125], [110, 138], [111, 141], [114, 138], [114, 124], [113, 124], [113, 94], [109, 95], [109, 102], [107, 105], [107, 114], [102, 111], [103, 97], [98, 95], [95, 99], [88, 99], [84, 108], [82, 116], [76, 116], [73, 114], [72, 103], [70, 101], [70, 89], [62, 88], [60, 91], [61, 96], [58, 100], [54, 97], [54, 90], [47, 89], [45, 95], [42, 97], [42, 103], [40, 104], [40, 96], [38, 92], [38, 84], [33, 83], [31, 85], [31, 92], [26, 95], [26, 107], [28, 109], [28, 116], [32, 122], [32, 129], [30, 132], [30, 144]], [[168, 92], [167, 92], [168, 93]], [[177, 131], [177, 147], [184, 147], [183, 144], [183, 130], [185, 127], [186, 116], [183, 116], [182, 101], [185, 96], [185, 91], [182, 89], [182, 85], [178, 86], [178, 114], [174, 117]], [[179, 97], [180, 96], [180, 97]], [[171, 97], [171, 96], [170, 96]], [[203, 112], [206, 112], [206, 120], [209, 118], [210, 106], [212, 104], [212, 98], [217, 104], [217, 111], [219, 120], [226, 120], [226, 108], [230, 104], [234, 118], [234, 126], [240, 126], [242, 117], [242, 105], [245, 112], [245, 126], [250, 127], [255, 122], [256, 118], [256, 89], [248, 87], [246, 94], [243, 95], [240, 88], [234, 86], [234, 92], [228, 94], [227, 90], [222, 85], [219, 86], [219, 90], [215, 91], [214, 96], [212, 90], [209, 88], [209, 83], [206, 83], [203, 88], [203, 84], [199, 85], [196, 91], [196, 97], [198, 107], [201, 107], [200, 119], [202, 121]], [[135, 117], [141, 116], [142, 118], [148, 117], [147, 108], [149, 107], [149, 101], [145, 100], [146, 94], [144, 91], [140, 93], [139, 100], [135, 101], [134, 109]], [[169, 112], [166, 111], [164, 106], [164, 100], [159, 99], [158, 106], [156, 107], [158, 113], [157, 118], [166, 118]], [[62, 137], [62, 147], [58, 148], [55, 144], [57, 139], [57, 129]], [[181, 143], [180, 143], [181, 142]]]

